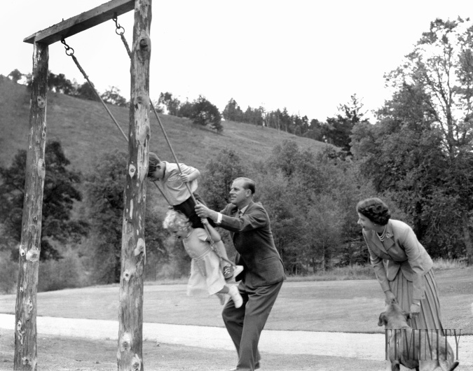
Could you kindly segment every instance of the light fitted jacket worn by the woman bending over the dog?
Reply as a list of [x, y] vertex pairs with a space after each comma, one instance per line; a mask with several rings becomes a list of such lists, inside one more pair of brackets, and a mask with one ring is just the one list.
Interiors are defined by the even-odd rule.
[[406, 279], [413, 283], [413, 299], [422, 299], [425, 290], [423, 276], [430, 271], [433, 262], [412, 228], [391, 219], [386, 227], [384, 244], [373, 230], [363, 230], [363, 237], [383, 291], [390, 290], [388, 281], [394, 280], [401, 269]]

